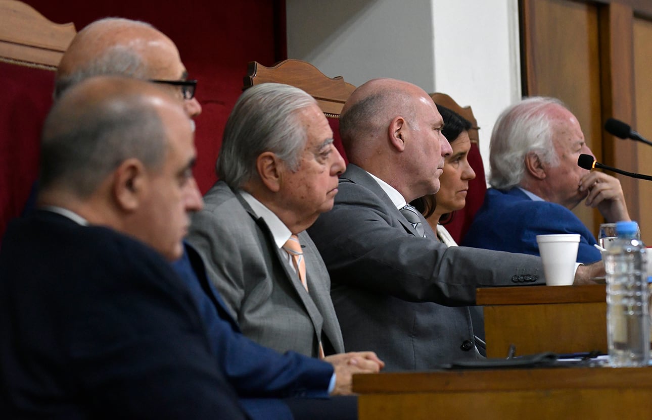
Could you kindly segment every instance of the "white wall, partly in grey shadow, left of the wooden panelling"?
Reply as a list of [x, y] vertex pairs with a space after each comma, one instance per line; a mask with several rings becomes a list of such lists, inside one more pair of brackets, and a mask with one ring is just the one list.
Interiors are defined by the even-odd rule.
[[520, 98], [518, 0], [286, 0], [288, 57], [353, 85], [395, 77], [471, 105], [488, 171], [494, 122]]

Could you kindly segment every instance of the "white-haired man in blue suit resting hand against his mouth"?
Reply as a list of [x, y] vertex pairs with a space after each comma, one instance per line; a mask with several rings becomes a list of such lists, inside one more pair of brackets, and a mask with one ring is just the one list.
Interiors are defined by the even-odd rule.
[[629, 220], [620, 182], [577, 165], [593, 154], [580, 123], [554, 98], [528, 98], [499, 117], [491, 180], [462, 245], [539, 255], [538, 234], [580, 234], [577, 262], [600, 260], [595, 237], [571, 210], [584, 200], [608, 222]]

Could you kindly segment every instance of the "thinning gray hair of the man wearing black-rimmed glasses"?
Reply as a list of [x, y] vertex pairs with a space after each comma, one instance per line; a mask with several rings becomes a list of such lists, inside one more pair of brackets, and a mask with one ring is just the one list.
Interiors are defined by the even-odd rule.
[[[125, 18], [104, 18], [90, 23], [84, 27], [82, 31], [93, 31], [96, 27], [101, 27], [102, 25], [106, 25], [106, 23], [156, 29], [153, 25], [143, 21], [129, 20]], [[82, 33], [82, 31], [80, 31], [80, 33]], [[82, 37], [83, 35], [84, 33], [82, 33]], [[71, 46], [73, 46], [73, 44], [71, 44]], [[115, 44], [108, 48], [100, 48], [99, 51], [97, 51], [97, 55], [94, 55], [92, 58], [89, 57], [86, 63], [78, 66], [73, 72], [66, 76], [57, 77], [55, 80], [53, 98], [57, 100], [68, 88], [88, 77], [115, 75], [133, 77], [134, 79], [148, 79], [152, 72], [153, 69], [149, 68], [149, 64], [143, 60], [141, 51], [136, 51], [130, 46]]]

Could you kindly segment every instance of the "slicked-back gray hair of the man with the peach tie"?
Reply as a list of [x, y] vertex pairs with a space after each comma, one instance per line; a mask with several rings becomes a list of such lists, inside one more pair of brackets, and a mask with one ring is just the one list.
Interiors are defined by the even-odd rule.
[[309, 94], [280, 83], [263, 83], [244, 91], [226, 121], [215, 170], [231, 188], [256, 175], [256, 159], [273, 152], [291, 171], [299, 169], [306, 144], [301, 109], [316, 104]]

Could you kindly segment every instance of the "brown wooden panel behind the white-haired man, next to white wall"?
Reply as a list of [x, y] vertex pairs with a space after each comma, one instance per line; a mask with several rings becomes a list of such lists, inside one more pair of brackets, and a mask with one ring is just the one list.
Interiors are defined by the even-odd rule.
[[[598, 8], [568, 0], [522, 0], [524, 94], [554, 96], [576, 115], [587, 145], [600, 161]], [[597, 210], [574, 210], [597, 233]]]

